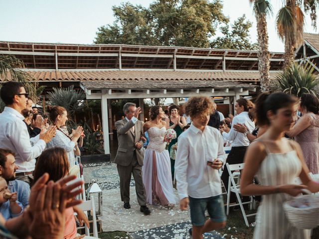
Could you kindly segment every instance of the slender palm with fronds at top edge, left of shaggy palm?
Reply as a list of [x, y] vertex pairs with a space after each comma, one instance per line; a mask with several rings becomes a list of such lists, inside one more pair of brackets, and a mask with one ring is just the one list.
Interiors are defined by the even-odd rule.
[[267, 16], [272, 13], [272, 7], [268, 0], [249, 0], [254, 6], [254, 12], [257, 20], [258, 32], [258, 68], [260, 73], [260, 88], [262, 92], [270, 90], [269, 77], [269, 51], [268, 51], [268, 32]]

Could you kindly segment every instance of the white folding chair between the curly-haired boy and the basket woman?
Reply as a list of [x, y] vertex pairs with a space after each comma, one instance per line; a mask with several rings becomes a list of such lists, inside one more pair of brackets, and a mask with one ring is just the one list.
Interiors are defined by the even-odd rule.
[[[228, 190], [227, 190], [227, 210], [226, 210], [226, 214], [227, 214], [227, 215], [229, 214], [229, 207], [234, 207], [234, 206], [239, 205], [239, 206], [240, 206], [240, 210], [241, 210], [241, 212], [242, 212], [242, 214], [243, 214], [243, 217], [244, 217], [244, 220], [245, 220], [245, 224], [246, 224], [247, 227], [249, 227], [247, 217], [255, 216], [256, 213], [246, 215], [243, 205], [245, 205], [245, 204], [250, 204], [250, 209], [252, 209], [252, 207], [253, 207], [253, 198], [250, 197], [250, 201], [249, 201], [249, 202], [242, 203], [242, 202], [241, 202], [240, 195], [239, 195], [239, 194], [240, 194], [239, 183], [236, 184], [236, 183], [235, 183], [235, 180], [234, 180], [234, 176], [237, 176], [237, 177], [238, 177], [238, 180], [239, 180], [240, 172], [236, 172], [236, 170], [241, 170], [241, 169], [243, 169], [243, 168], [244, 168], [244, 163], [238, 163], [238, 164], [228, 164], [228, 163], [226, 163], [226, 168], [227, 168], [228, 173], [229, 173], [229, 178], [228, 178]], [[235, 171], [235, 172], [232, 173], [232, 171]], [[231, 193], [231, 192], [233, 192], [233, 193], [236, 194], [238, 203], [229, 205], [230, 193]]]

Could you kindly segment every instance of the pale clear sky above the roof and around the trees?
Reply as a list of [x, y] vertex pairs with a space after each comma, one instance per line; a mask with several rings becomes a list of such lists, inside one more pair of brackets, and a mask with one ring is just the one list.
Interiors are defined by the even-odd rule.
[[[129, 0], [145, 7], [153, 0]], [[269, 49], [283, 52], [275, 20], [283, 0], [270, 0], [273, 16], [268, 19]], [[92, 44], [97, 28], [112, 24], [113, 5], [121, 0], [0, 0], [0, 41]], [[234, 21], [239, 16], [253, 22], [251, 41], [257, 41], [256, 19], [249, 0], [223, 0], [223, 12]], [[318, 24], [319, 25], [319, 24]], [[305, 32], [316, 33], [306, 16]]]

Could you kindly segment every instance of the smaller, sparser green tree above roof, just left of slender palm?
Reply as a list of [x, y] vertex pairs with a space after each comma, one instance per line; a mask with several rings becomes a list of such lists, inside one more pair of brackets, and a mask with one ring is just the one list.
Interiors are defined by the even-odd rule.
[[220, 27], [222, 36], [216, 37], [211, 43], [211, 48], [237, 49], [237, 50], [257, 50], [258, 44], [251, 43], [249, 28], [252, 22], [246, 20], [245, 14], [234, 21], [231, 26], [226, 23]]

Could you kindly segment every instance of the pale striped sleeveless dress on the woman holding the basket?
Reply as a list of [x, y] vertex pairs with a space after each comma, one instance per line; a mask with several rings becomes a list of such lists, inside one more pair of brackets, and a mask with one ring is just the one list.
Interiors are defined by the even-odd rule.
[[[256, 174], [263, 186], [294, 184], [301, 172], [301, 162], [295, 150], [271, 153], [262, 161]], [[292, 196], [285, 193], [263, 195], [258, 208], [254, 239], [310, 239], [310, 231], [293, 227], [284, 212], [283, 203]]]

